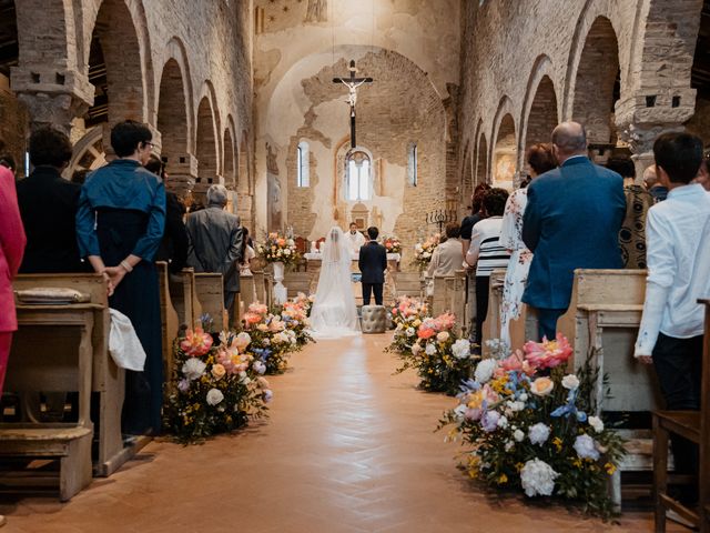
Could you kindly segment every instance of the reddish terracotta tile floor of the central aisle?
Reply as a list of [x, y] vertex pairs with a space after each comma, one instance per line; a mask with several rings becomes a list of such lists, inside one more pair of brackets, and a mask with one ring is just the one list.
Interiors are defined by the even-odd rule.
[[452, 399], [393, 376], [388, 335], [322, 341], [272, 378], [271, 419], [200, 446], [153, 442], [69, 504], [0, 504], [10, 532], [652, 531], [486, 496], [433, 429]]

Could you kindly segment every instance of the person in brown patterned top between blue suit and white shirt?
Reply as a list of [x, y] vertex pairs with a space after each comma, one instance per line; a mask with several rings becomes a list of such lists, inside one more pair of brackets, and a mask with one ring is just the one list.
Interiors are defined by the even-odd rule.
[[623, 188], [626, 215], [619, 231], [619, 248], [625, 269], [646, 269], [646, 213], [653, 205], [653, 197], [641, 185], [633, 183], [636, 167], [628, 158], [611, 159], [607, 169], [628, 183]]

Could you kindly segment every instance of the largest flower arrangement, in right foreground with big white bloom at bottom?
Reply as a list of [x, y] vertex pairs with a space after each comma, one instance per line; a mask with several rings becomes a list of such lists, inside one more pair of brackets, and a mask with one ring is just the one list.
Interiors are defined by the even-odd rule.
[[607, 482], [625, 454], [621, 438], [592, 415], [596, 371], [567, 370], [567, 339], [527, 342], [506, 359], [484, 359], [439, 429], [470, 446], [462, 467], [494, 487], [558, 496], [608, 517]]

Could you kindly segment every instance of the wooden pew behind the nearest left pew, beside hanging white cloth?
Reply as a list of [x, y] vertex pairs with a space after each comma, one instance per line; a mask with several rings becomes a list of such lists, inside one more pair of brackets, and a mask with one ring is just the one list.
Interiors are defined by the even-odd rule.
[[[99, 435], [94, 456], [95, 475], [110, 475], [148, 443], [141, 440], [124, 447], [121, 436], [121, 409], [125, 393], [125, 372], [119, 369], [109, 354], [109, 298], [106, 284], [98, 274], [20, 274], [13, 282], [14, 290], [62, 286], [89, 294], [94, 308], [91, 345], [93, 351], [91, 390], [99, 396]], [[20, 331], [22, 333], [22, 331]], [[51, 342], [51, 338], [44, 339]]]

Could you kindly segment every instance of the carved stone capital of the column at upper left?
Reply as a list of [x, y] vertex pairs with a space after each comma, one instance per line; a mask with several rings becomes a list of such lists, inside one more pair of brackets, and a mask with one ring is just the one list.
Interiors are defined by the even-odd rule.
[[75, 117], [93, 103], [94, 89], [82, 73], [44, 64], [16, 67], [11, 73], [12, 90], [30, 114], [30, 128], [53, 125], [71, 131]]

